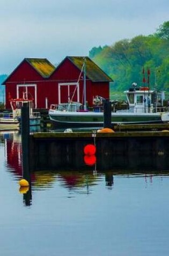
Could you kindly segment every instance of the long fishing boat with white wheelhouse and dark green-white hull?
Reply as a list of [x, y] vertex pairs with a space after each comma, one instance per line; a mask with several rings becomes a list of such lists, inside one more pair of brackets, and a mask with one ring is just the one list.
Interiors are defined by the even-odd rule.
[[[115, 111], [112, 102], [112, 126], [115, 124], [169, 122], [169, 109], [168, 106], [164, 106], [165, 92], [157, 93], [156, 90], [151, 90], [149, 87], [137, 86], [134, 82], [124, 93], [127, 96], [128, 109]], [[48, 114], [56, 128], [100, 128], [104, 125], [104, 99], [101, 96], [96, 96], [93, 99], [92, 111], [89, 111], [82, 103], [71, 100], [58, 105], [52, 104]]]

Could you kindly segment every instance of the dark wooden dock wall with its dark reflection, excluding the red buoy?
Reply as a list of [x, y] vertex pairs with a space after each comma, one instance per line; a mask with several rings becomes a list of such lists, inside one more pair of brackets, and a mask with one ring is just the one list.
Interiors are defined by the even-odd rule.
[[95, 168], [169, 170], [168, 132], [35, 133], [30, 136], [31, 170], [86, 170], [84, 147], [95, 144]]

